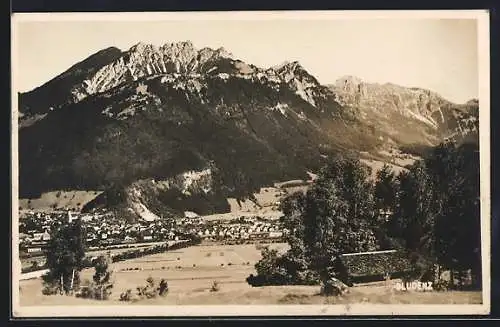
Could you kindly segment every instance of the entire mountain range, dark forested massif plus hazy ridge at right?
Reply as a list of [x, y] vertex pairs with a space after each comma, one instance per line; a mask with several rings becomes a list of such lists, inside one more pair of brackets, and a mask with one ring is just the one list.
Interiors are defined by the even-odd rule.
[[[307, 178], [336, 152], [436, 144], [478, 108], [347, 81], [191, 42], [108, 48], [19, 95], [20, 195], [102, 190], [85, 210], [143, 219], [223, 211], [227, 197]], [[205, 177], [188, 187], [192, 176]]]

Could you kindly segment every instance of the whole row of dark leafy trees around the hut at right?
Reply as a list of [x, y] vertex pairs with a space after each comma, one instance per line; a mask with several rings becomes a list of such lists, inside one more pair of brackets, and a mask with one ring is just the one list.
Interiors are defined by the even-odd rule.
[[408, 278], [479, 288], [478, 146], [443, 143], [399, 173], [370, 174], [357, 155], [337, 155], [306, 193], [284, 199], [289, 250], [264, 249], [248, 283], [349, 284], [342, 254], [396, 249], [412, 265]]

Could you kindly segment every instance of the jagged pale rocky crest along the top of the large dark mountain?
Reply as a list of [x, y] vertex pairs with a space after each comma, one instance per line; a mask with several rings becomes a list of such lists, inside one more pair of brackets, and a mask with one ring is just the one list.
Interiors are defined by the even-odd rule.
[[[99, 59], [102, 57], [105, 60]], [[86, 64], [96, 60], [98, 62], [95, 65]], [[170, 75], [169, 78], [174, 79], [180, 76], [188, 78], [219, 76], [227, 79], [232, 75], [237, 78], [255, 79], [261, 83], [271, 83], [275, 88], [285, 83], [313, 106], [316, 103], [314, 98], [321, 93], [315, 88], [325, 88], [298, 61], [284, 62], [276, 67], [262, 69], [234, 58], [224, 47], [198, 49], [189, 40], [160, 46], [138, 42], [123, 52], [111, 47], [85, 59], [82, 63], [89, 68], [77, 70], [71, 68], [63, 74], [75, 73], [78, 74], [78, 78], [72, 78], [70, 81], [61, 80], [56, 91], [49, 92], [44, 88], [50, 93], [50, 99], [47, 97], [41, 99], [36, 94], [22, 94], [20, 111], [29, 113], [33, 111], [33, 107], [37, 112], [32, 114], [45, 114], [51, 111], [52, 107], [57, 109], [61, 105], [80, 102], [89, 95], [104, 93], [119, 85], [157, 75]], [[61, 101], [54, 106], [56, 98], [60, 98]]]

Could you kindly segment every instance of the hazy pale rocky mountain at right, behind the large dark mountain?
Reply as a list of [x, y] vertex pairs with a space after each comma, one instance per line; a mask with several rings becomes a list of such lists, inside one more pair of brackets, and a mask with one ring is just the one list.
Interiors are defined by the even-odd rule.
[[330, 89], [340, 104], [354, 108], [360, 118], [385, 129], [397, 142], [434, 143], [478, 128], [474, 101], [454, 104], [430, 90], [366, 83], [354, 76], [339, 78]]

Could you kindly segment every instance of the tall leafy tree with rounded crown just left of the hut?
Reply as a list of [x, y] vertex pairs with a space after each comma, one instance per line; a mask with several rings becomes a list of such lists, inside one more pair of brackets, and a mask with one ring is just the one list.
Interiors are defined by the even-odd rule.
[[336, 259], [341, 254], [376, 249], [369, 173], [357, 158], [339, 156], [307, 192], [304, 240], [323, 284], [338, 276]]

